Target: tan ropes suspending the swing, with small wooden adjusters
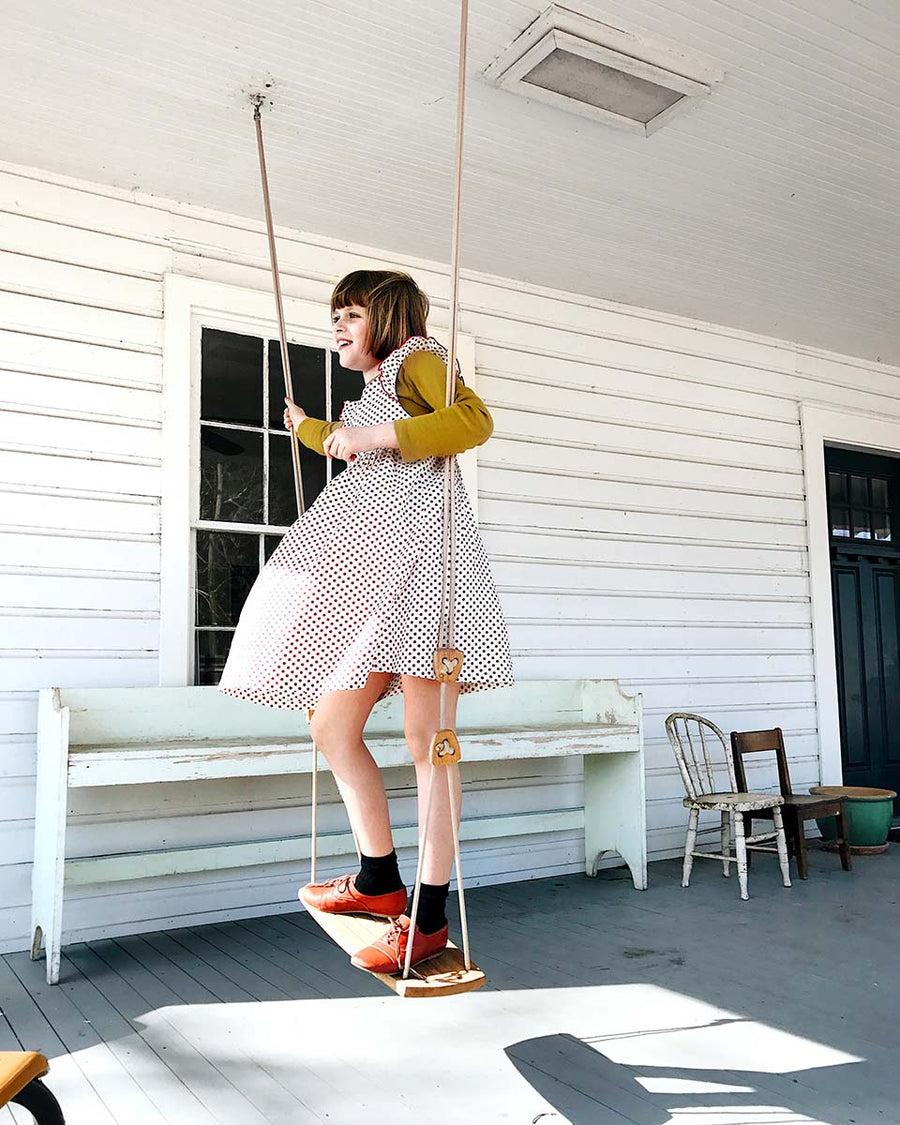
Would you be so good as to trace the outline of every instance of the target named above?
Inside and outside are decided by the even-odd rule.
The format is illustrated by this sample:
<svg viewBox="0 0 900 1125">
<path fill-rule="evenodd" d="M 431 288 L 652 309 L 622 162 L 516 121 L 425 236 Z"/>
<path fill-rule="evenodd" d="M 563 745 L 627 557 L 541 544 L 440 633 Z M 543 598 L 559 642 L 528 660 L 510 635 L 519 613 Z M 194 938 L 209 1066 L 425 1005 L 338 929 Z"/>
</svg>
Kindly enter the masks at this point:
<svg viewBox="0 0 900 1125">
<path fill-rule="evenodd" d="M 460 26 L 459 26 L 459 66 L 457 84 L 457 125 L 456 125 L 456 164 L 453 186 L 453 212 L 451 227 L 451 253 L 450 253 L 450 348 L 447 363 L 447 384 L 444 394 L 444 405 L 452 406 L 457 394 L 457 336 L 459 331 L 459 258 L 460 258 L 460 235 L 462 216 L 462 154 L 464 134 L 466 122 L 466 53 L 468 40 L 469 4 L 468 0 L 460 0 Z M 267 101 L 262 93 L 254 94 L 251 99 L 253 104 L 253 120 L 256 128 L 256 148 L 259 152 L 260 178 L 262 180 L 262 197 L 266 210 L 266 231 L 269 241 L 269 259 L 272 271 L 272 284 L 274 289 L 276 307 L 278 312 L 278 327 L 281 340 L 281 367 L 285 376 L 285 394 L 294 399 L 292 381 L 290 376 L 290 357 L 288 354 L 287 330 L 285 327 L 284 302 L 281 297 L 281 282 L 278 271 L 278 258 L 274 243 L 274 227 L 272 224 L 272 209 L 269 197 L 269 181 L 266 170 L 266 151 L 262 140 L 262 106 Z M 294 487 L 297 500 L 297 513 L 303 515 L 305 511 L 303 478 L 300 475 L 300 457 L 297 434 L 291 428 L 291 464 L 294 466 Z M 460 673 L 462 664 L 462 652 L 453 648 L 454 627 L 454 601 L 456 601 L 456 494 L 453 488 L 456 471 L 456 458 L 446 457 L 443 459 L 443 511 L 441 520 L 441 611 L 438 627 L 438 649 L 434 652 L 434 675 L 440 683 L 440 726 L 435 734 L 431 749 L 431 770 L 429 774 L 429 789 L 425 803 L 424 824 L 420 827 L 418 834 L 418 864 L 416 867 L 415 889 L 413 891 L 412 910 L 410 911 L 410 938 L 406 945 L 406 958 L 403 968 L 403 979 L 410 975 L 413 939 L 415 935 L 416 918 L 418 915 L 418 901 L 422 892 L 422 876 L 424 862 L 428 852 L 429 827 L 431 813 L 434 806 L 434 784 L 440 766 L 447 778 L 447 795 L 450 807 L 450 820 L 453 835 L 453 863 L 457 876 L 457 893 L 459 898 L 459 920 L 462 930 L 462 954 L 466 970 L 471 969 L 471 957 L 469 954 L 469 932 L 466 915 L 466 896 L 462 885 L 462 863 L 459 848 L 459 808 L 454 799 L 456 782 L 459 775 L 459 742 L 456 732 L 449 729 L 447 720 L 447 695 L 448 683 L 454 682 Z M 312 710 L 307 712 L 307 719 L 312 719 Z M 310 793 L 310 842 L 309 842 L 309 881 L 316 881 L 316 855 L 317 855 L 317 827 L 318 827 L 318 750 L 313 742 L 313 767 L 312 767 L 312 793 Z M 351 826 L 352 830 L 352 826 Z M 353 843 L 357 848 L 357 856 L 360 855 L 359 842 L 353 832 Z"/>
</svg>

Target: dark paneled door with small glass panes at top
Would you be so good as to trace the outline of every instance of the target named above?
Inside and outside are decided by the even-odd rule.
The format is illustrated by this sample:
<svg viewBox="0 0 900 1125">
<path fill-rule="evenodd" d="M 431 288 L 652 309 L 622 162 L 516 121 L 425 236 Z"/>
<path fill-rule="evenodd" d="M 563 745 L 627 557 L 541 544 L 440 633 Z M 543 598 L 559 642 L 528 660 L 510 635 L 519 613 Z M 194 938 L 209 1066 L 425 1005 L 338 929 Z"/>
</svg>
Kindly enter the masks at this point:
<svg viewBox="0 0 900 1125">
<path fill-rule="evenodd" d="M 844 783 L 900 791 L 900 460 L 825 464 Z"/>
</svg>

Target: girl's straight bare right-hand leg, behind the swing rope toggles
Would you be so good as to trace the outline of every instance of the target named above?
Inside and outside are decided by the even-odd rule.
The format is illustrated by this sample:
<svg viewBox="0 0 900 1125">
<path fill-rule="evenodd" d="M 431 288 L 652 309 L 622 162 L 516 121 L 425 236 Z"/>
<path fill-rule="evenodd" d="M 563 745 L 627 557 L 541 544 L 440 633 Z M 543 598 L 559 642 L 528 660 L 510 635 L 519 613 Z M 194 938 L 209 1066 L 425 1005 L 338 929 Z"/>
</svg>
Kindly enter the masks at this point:
<svg viewBox="0 0 900 1125">
<path fill-rule="evenodd" d="M 424 680 L 421 676 L 403 677 L 403 700 L 405 706 L 404 734 L 406 745 L 415 764 L 416 784 L 418 786 L 418 847 L 422 849 L 422 831 L 425 826 L 425 806 L 429 795 L 431 777 L 431 740 L 441 728 L 440 684 L 436 680 Z M 459 687 L 447 685 L 448 727 L 454 727 Z M 450 881 L 453 867 L 453 826 L 450 819 L 450 802 L 448 798 L 447 771 L 450 771 L 453 802 L 459 816 L 462 800 L 459 783 L 459 770 L 452 766 L 439 766 L 434 777 L 434 796 L 431 807 L 431 825 L 429 827 L 428 848 L 425 849 L 422 882 L 441 885 Z"/>
</svg>

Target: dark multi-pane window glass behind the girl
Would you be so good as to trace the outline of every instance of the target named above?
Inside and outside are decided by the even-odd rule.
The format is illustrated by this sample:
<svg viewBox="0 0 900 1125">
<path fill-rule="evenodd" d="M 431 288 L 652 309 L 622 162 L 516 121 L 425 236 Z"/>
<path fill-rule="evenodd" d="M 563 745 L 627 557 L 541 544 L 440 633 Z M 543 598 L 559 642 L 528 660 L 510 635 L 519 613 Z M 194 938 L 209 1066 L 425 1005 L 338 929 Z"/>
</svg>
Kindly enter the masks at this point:
<svg viewBox="0 0 900 1125">
<path fill-rule="evenodd" d="M 327 348 L 289 344 L 297 402 L 336 418 L 362 376 Z M 260 568 L 297 518 L 277 340 L 204 327 L 200 336 L 199 496 L 195 521 L 195 683 L 216 684 Z M 300 447 L 306 505 L 342 462 Z"/>
</svg>

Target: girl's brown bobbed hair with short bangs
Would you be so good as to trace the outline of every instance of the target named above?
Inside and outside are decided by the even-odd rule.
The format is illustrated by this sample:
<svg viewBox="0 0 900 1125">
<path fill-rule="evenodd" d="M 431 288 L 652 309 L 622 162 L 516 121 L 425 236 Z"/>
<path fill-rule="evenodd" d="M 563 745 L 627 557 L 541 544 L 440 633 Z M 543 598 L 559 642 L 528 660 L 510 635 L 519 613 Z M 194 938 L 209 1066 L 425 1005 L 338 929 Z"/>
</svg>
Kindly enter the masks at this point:
<svg viewBox="0 0 900 1125">
<path fill-rule="evenodd" d="M 426 334 L 429 299 L 408 273 L 394 270 L 354 270 L 331 295 L 331 310 L 359 305 L 369 320 L 368 348 L 386 359 L 410 336 Z"/>
</svg>

